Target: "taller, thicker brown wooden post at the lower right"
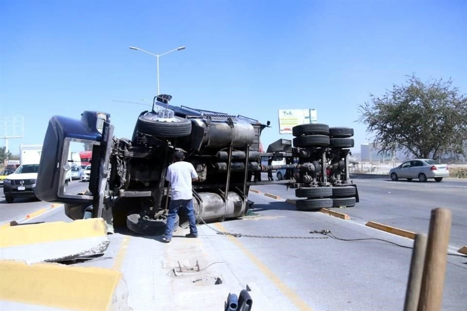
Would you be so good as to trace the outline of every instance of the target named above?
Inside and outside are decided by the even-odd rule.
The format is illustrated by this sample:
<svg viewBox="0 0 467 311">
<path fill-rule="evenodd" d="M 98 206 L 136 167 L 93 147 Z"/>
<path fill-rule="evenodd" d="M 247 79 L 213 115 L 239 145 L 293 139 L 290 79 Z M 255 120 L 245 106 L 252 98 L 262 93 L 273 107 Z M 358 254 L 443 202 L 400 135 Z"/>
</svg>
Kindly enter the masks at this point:
<svg viewBox="0 0 467 311">
<path fill-rule="evenodd" d="M 441 310 L 451 217 L 451 211 L 448 209 L 435 208 L 431 210 L 418 311 Z"/>
</svg>

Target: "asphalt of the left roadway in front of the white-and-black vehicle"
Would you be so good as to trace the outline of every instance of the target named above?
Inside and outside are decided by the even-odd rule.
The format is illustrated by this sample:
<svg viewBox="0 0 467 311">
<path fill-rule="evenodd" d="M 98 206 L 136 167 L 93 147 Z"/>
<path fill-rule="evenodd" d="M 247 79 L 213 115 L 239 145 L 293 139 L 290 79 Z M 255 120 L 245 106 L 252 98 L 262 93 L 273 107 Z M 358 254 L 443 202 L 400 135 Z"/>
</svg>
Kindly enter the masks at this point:
<svg viewBox="0 0 467 311">
<path fill-rule="evenodd" d="M 87 182 L 73 180 L 67 187 L 67 192 L 78 193 L 88 189 Z M 50 207 L 52 203 L 43 202 L 35 198 L 15 198 L 13 203 L 6 203 L 3 195 L 3 187 L 0 188 L 0 224 L 19 220 L 28 214 L 41 209 Z"/>
</svg>

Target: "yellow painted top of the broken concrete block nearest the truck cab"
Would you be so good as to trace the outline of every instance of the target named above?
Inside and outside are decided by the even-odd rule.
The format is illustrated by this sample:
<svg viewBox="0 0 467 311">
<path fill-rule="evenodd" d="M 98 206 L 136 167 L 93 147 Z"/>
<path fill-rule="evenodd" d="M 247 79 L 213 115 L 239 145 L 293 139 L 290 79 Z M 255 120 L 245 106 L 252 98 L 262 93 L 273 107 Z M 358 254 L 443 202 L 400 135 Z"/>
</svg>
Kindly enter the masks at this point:
<svg viewBox="0 0 467 311">
<path fill-rule="evenodd" d="M 102 218 L 75 220 L 72 223 L 16 225 L 0 230 L 0 250 L 3 247 L 100 236 L 107 236 L 107 225 Z"/>
</svg>

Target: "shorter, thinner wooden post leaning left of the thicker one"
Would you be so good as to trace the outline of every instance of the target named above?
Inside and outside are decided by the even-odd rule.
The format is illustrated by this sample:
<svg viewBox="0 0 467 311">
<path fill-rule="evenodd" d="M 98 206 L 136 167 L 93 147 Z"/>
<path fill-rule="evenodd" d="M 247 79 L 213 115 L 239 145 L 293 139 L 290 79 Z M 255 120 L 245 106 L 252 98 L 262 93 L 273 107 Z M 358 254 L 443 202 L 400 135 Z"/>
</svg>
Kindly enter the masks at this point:
<svg viewBox="0 0 467 311">
<path fill-rule="evenodd" d="M 412 260 L 410 263 L 409 281 L 405 294 L 404 311 L 417 311 L 420 287 L 422 286 L 423 265 L 425 263 L 425 252 L 427 250 L 427 236 L 425 234 L 415 235 L 413 241 Z"/>
</svg>

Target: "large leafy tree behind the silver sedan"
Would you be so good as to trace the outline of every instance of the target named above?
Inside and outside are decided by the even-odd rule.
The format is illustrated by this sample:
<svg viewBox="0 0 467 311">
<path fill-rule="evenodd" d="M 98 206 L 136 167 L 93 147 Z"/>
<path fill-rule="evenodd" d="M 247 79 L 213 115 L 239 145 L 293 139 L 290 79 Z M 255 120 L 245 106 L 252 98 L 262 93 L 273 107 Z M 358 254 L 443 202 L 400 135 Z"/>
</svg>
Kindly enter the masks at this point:
<svg viewBox="0 0 467 311">
<path fill-rule="evenodd" d="M 393 85 L 382 96 L 370 94 L 359 111 L 359 121 L 375 135 L 380 153 L 401 149 L 433 159 L 446 153 L 465 155 L 467 97 L 450 79 L 422 82 L 413 74 L 405 85 Z"/>
</svg>

